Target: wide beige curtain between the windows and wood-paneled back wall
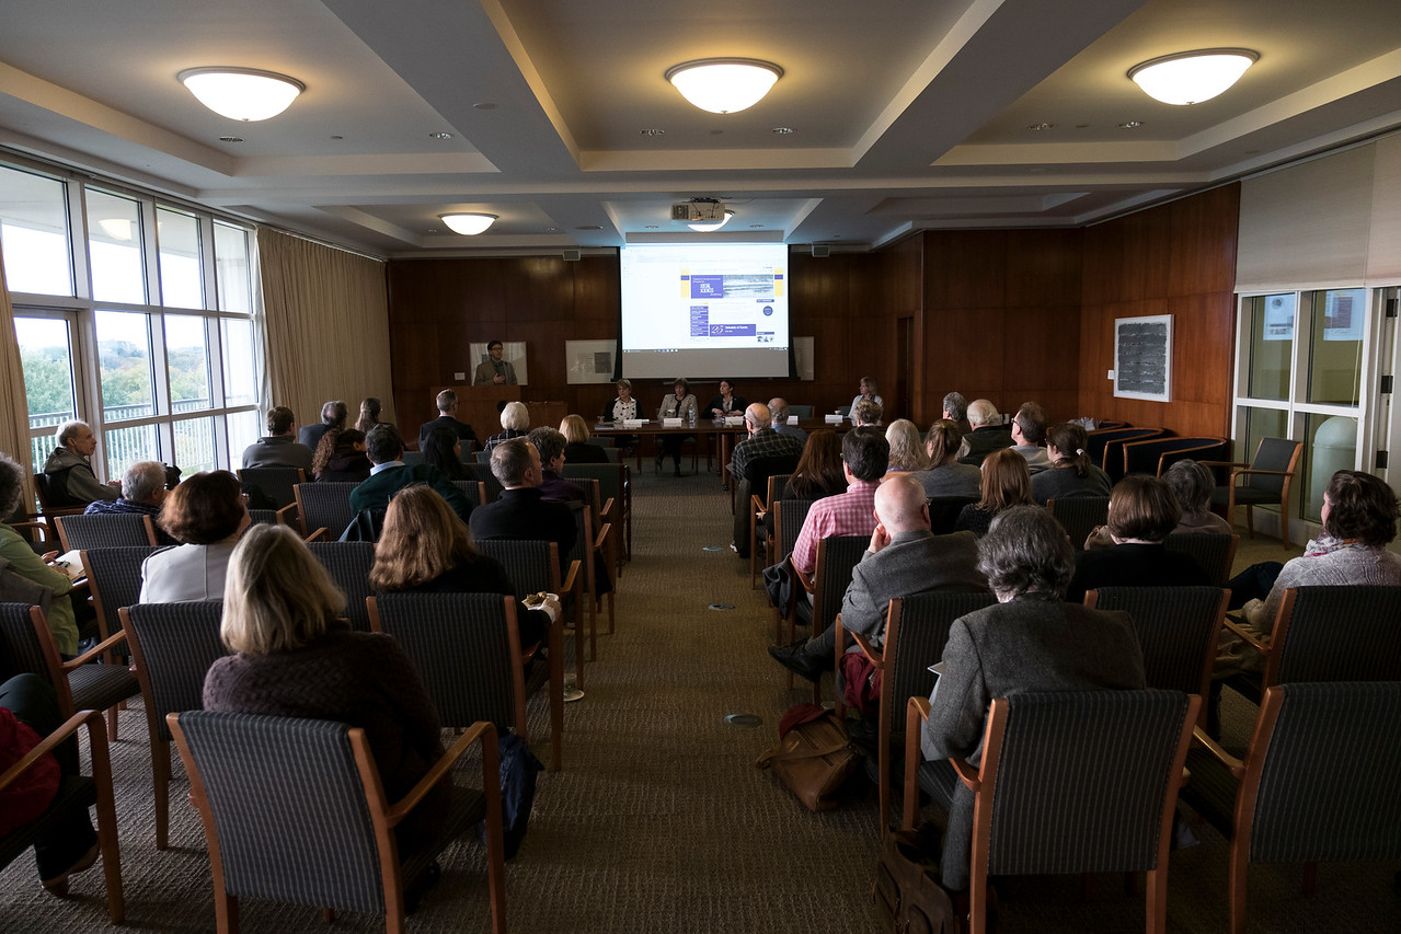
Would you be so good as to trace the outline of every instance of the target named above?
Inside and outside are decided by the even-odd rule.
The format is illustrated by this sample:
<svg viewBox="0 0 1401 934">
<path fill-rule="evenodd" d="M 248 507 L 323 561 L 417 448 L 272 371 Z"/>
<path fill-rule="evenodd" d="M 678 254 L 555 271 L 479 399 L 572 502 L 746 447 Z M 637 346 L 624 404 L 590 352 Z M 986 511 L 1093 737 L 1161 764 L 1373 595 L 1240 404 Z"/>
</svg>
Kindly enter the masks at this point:
<svg viewBox="0 0 1401 934">
<path fill-rule="evenodd" d="M 262 228 L 258 267 L 266 316 L 266 407 L 284 405 L 315 424 L 321 405 L 343 399 L 354 423 L 360 399 L 378 396 L 394 421 L 385 265 Z"/>
</svg>

